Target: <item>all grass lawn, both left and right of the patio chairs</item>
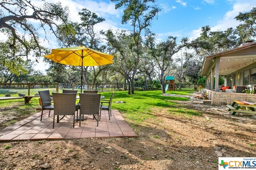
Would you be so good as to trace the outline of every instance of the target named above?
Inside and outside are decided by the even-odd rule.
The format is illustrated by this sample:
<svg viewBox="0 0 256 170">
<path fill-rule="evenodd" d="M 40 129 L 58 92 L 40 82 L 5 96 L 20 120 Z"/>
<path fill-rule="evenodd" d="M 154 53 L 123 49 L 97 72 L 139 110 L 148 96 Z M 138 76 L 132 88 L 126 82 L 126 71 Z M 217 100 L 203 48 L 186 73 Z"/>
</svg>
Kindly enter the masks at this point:
<svg viewBox="0 0 256 170">
<path fill-rule="evenodd" d="M 188 95 L 192 91 L 167 91 L 166 93 Z M 105 99 L 109 99 L 112 92 L 100 92 Z M 184 108 L 175 101 L 188 101 L 188 98 L 161 96 L 161 90 L 135 91 L 134 95 L 128 95 L 127 91 L 114 93 L 112 109 L 118 109 L 129 123 L 140 124 L 145 119 L 154 119 L 152 111 L 156 108 L 168 108 L 168 113 L 176 115 L 200 115 L 197 111 Z M 114 101 L 124 101 L 125 103 L 114 103 Z M 40 107 L 38 98 L 32 98 L 30 104 L 25 105 L 23 99 L 0 100 L 0 107 L 5 107 L 5 112 L 16 112 L 17 114 L 36 113 L 36 108 Z M 2 110 L 3 111 L 3 110 Z M 2 113 L 5 114 L 5 113 Z"/>
</svg>

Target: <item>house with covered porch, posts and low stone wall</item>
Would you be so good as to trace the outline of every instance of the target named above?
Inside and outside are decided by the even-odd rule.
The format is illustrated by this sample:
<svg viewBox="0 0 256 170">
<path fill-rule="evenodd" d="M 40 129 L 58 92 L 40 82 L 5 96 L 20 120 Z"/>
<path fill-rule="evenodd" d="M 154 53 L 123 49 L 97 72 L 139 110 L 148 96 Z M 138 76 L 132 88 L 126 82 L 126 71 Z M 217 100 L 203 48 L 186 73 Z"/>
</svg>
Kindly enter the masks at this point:
<svg viewBox="0 0 256 170">
<path fill-rule="evenodd" d="M 230 94 L 220 92 L 219 76 L 224 76 L 224 86 L 256 86 L 256 43 L 246 43 L 235 49 L 216 53 L 204 58 L 202 76 L 206 76 L 212 105 L 230 104 L 232 100 L 256 102 L 256 94 Z M 215 83 L 214 82 L 215 76 Z M 214 93 L 215 92 L 215 93 Z M 217 98 L 215 98 L 218 96 Z M 224 100 L 221 100 L 224 98 Z M 217 102 L 220 100 L 219 102 Z"/>
</svg>

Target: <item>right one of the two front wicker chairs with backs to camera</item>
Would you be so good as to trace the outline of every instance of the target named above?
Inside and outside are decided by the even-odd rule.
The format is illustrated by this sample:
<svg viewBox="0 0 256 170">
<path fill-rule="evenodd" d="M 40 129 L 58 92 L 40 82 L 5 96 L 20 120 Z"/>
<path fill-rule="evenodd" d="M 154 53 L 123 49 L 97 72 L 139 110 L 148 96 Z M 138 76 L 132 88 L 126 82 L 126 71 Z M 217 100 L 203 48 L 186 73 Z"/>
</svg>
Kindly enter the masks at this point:
<svg viewBox="0 0 256 170">
<path fill-rule="evenodd" d="M 79 126 L 81 126 L 81 115 L 93 115 L 96 119 L 95 115 L 98 115 L 97 126 L 99 125 L 99 116 L 100 116 L 100 95 L 101 94 L 79 94 L 80 97 L 80 122 Z"/>
</svg>

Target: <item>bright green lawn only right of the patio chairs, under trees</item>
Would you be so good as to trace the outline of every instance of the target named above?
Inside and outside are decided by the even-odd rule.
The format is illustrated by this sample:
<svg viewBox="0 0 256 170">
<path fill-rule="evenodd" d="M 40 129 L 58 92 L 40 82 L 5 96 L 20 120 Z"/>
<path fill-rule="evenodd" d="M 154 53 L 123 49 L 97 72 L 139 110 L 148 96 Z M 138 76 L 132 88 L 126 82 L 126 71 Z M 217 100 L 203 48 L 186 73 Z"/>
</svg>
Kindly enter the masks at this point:
<svg viewBox="0 0 256 170">
<path fill-rule="evenodd" d="M 110 98 L 112 92 L 102 92 L 102 96 L 106 99 Z M 166 91 L 166 93 L 188 95 L 191 91 Z M 143 120 L 148 118 L 154 118 L 151 114 L 154 107 L 163 108 L 175 106 L 175 108 L 180 107 L 175 103 L 175 100 L 188 101 L 188 98 L 182 97 L 170 97 L 161 96 L 161 90 L 154 91 L 135 91 L 134 95 L 128 95 L 127 91 L 115 92 L 113 101 L 124 101 L 126 103 L 112 103 L 112 109 L 118 109 L 126 121 L 130 123 L 140 124 Z M 191 113 L 191 110 L 186 113 L 184 109 L 181 109 L 179 113 L 183 114 L 185 112 L 187 115 L 197 115 L 196 113 Z M 175 111 L 177 113 L 177 111 Z"/>
</svg>

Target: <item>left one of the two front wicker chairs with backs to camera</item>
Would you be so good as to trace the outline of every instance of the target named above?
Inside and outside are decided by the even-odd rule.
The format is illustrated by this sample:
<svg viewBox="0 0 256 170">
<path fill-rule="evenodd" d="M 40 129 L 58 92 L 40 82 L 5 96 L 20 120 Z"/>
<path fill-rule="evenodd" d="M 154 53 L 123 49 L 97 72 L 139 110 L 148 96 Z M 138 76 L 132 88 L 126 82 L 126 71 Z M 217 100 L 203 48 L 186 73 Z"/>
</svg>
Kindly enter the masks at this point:
<svg viewBox="0 0 256 170">
<path fill-rule="evenodd" d="M 76 93 L 52 93 L 54 103 L 53 126 L 55 115 L 73 115 L 73 128 L 75 127 Z M 57 118 L 58 123 L 58 118 Z"/>
</svg>

